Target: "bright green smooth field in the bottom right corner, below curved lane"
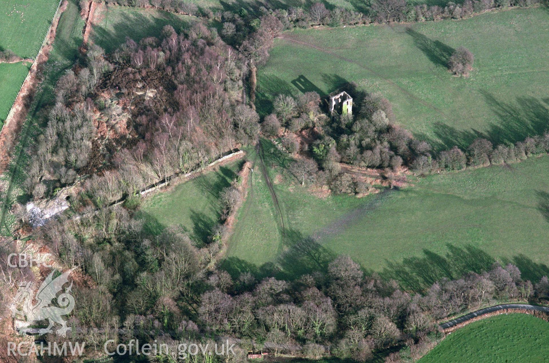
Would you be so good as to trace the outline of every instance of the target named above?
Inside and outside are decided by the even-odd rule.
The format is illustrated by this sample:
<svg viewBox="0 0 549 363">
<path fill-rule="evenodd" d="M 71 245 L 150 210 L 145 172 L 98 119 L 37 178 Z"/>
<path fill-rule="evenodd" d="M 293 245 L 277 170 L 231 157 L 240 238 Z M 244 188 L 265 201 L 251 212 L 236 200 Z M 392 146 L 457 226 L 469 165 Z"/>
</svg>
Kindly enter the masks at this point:
<svg viewBox="0 0 549 363">
<path fill-rule="evenodd" d="M 526 314 L 497 315 L 473 322 L 447 336 L 420 363 L 545 362 L 549 324 Z"/>
</svg>

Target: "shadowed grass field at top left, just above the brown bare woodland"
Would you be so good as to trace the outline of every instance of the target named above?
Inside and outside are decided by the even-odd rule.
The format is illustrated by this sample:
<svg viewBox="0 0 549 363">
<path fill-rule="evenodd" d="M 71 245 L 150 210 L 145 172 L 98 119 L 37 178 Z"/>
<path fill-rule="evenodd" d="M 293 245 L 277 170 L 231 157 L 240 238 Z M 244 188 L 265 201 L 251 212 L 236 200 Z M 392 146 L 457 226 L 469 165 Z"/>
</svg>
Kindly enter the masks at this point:
<svg viewBox="0 0 549 363">
<path fill-rule="evenodd" d="M 144 37 L 158 37 L 165 25 L 173 26 L 177 32 L 188 28 L 197 18 L 173 14 L 163 10 L 127 8 L 118 6 L 104 7 L 98 14 L 100 23 L 93 26 L 92 39 L 98 46 L 110 53 L 126 37 L 138 42 Z"/>
</svg>

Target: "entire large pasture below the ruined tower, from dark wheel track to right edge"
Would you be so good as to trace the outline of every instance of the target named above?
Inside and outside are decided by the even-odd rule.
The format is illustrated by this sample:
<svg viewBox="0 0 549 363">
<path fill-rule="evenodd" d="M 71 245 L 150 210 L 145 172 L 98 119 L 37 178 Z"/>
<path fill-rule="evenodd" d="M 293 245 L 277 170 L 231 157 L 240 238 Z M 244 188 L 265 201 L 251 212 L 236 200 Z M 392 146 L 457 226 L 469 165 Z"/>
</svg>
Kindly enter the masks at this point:
<svg viewBox="0 0 549 363">
<path fill-rule="evenodd" d="M 442 277 L 519 266 L 533 281 L 549 274 L 549 156 L 412 180 L 413 186 L 365 198 L 318 198 L 292 181 L 283 156 L 264 142 L 265 162 L 284 220 L 256 161 L 225 268 L 235 275 L 292 278 L 349 254 L 412 290 Z M 250 154 L 252 155 L 252 154 Z M 252 160 L 253 158 L 250 157 Z M 311 239 L 309 237 L 314 237 Z"/>
</svg>

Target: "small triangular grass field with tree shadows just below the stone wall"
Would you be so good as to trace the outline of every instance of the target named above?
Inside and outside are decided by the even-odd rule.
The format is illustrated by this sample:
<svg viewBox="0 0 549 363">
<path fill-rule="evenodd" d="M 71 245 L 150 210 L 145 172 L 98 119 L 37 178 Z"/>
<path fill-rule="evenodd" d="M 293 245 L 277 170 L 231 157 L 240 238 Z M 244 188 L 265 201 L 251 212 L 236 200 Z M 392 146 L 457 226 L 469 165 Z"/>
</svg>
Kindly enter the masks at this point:
<svg viewBox="0 0 549 363">
<path fill-rule="evenodd" d="M 231 185 L 240 167 L 242 161 L 221 166 L 214 172 L 178 184 L 170 191 L 146 198 L 138 212 L 145 220 L 146 228 L 152 234 L 175 228 L 188 232 L 198 243 L 205 242 L 211 229 L 219 224 L 219 194 Z"/>
</svg>

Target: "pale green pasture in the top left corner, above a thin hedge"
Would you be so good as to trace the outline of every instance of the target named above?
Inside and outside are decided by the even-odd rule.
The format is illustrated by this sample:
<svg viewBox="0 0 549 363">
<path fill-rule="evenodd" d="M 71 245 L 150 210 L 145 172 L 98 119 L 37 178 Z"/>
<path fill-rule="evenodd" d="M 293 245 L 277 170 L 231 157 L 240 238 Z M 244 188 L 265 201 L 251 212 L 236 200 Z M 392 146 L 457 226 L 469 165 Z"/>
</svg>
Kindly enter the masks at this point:
<svg viewBox="0 0 549 363">
<path fill-rule="evenodd" d="M 34 58 L 42 46 L 59 0 L 0 2 L 0 50 Z"/>
</svg>

